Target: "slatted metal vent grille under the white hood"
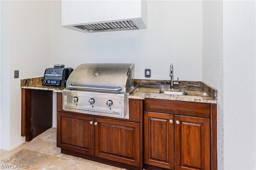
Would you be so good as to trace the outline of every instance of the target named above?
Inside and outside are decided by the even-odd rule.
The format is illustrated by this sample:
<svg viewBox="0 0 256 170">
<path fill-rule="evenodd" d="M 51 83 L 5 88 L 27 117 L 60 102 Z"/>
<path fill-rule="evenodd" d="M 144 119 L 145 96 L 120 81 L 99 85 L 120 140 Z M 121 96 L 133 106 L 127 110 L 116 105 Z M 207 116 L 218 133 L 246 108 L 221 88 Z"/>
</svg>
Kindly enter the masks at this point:
<svg viewBox="0 0 256 170">
<path fill-rule="evenodd" d="M 118 30 L 138 30 L 137 26 L 131 21 L 105 22 L 99 24 L 86 24 L 74 26 L 87 32 L 103 32 L 103 31 L 118 31 Z"/>
</svg>

